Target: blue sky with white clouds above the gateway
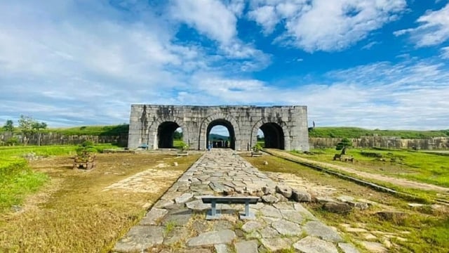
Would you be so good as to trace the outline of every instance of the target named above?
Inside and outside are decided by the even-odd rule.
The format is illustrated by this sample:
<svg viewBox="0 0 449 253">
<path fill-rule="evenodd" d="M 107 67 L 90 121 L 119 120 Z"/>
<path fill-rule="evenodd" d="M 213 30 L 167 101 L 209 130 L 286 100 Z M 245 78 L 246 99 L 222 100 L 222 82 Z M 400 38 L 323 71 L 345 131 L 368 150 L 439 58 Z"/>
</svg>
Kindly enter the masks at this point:
<svg viewBox="0 0 449 253">
<path fill-rule="evenodd" d="M 121 124 L 147 103 L 449 129 L 449 3 L 0 1 L 0 100 L 0 124 Z"/>
</svg>

